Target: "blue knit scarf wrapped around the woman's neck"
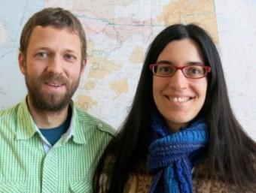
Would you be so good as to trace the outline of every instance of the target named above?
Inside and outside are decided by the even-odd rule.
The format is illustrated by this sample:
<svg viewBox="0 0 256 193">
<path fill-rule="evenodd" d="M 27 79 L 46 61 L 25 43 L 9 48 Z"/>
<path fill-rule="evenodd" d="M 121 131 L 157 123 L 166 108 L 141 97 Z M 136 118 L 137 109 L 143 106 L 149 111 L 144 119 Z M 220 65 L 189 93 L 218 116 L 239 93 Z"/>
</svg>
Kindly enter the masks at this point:
<svg viewBox="0 0 256 193">
<path fill-rule="evenodd" d="M 209 140 L 205 122 L 198 119 L 170 134 L 163 118 L 154 113 L 152 128 L 155 137 L 148 147 L 148 168 L 154 178 L 150 193 L 192 193 L 192 168 Z"/>
</svg>

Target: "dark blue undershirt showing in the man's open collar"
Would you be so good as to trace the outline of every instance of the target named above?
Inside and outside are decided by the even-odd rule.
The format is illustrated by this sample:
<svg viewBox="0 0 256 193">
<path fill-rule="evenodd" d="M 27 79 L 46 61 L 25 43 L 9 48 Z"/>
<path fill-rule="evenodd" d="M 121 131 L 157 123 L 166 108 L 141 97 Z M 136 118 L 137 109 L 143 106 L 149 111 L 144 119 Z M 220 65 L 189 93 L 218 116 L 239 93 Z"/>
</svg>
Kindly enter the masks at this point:
<svg viewBox="0 0 256 193">
<path fill-rule="evenodd" d="M 69 128 L 70 120 L 72 116 L 72 110 L 69 107 L 68 116 L 67 119 L 59 125 L 59 127 L 56 128 L 39 128 L 41 131 L 41 134 L 44 135 L 44 137 L 49 141 L 49 143 L 53 146 L 62 136 L 62 134 L 65 134 L 66 131 Z"/>
</svg>

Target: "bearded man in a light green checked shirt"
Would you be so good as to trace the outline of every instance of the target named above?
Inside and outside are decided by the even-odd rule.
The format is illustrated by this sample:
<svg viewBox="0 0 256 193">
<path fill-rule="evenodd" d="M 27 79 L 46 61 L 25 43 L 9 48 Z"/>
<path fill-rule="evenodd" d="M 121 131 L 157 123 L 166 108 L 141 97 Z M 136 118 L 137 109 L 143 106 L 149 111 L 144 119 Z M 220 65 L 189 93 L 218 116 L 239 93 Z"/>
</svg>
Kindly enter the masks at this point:
<svg viewBox="0 0 256 193">
<path fill-rule="evenodd" d="M 20 38 L 28 95 L 0 112 L 1 192 L 91 192 L 114 130 L 72 103 L 86 65 L 78 19 L 62 8 L 34 14 Z"/>
</svg>

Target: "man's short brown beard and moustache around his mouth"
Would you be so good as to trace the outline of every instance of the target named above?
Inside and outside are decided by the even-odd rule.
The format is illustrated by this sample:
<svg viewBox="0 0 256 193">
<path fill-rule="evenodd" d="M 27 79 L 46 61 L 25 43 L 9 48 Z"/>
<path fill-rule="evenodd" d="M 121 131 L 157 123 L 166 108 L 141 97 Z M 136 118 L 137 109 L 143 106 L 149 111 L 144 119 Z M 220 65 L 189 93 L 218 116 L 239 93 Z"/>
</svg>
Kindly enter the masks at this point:
<svg viewBox="0 0 256 193">
<path fill-rule="evenodd" d="M 42 74 L 42 76 L 38 78 L 31 78 L 26 75 L 25 81 L 30 101 L 35 109 L 58 112 L 67 107 L 72 101 L 72 96 L 76 89 L 78 89 L 80 77 L 78 77 L 78 80 L 69 83 L 69 80 L 61 74 L 47 73 Z M 52 91 L 44 92 L 41 89 L 41 85 L 45 83 L 58 83 L 59 85 L 64 85 L 66 86 L 66 92 L 64 94 Z"/>
</svg>

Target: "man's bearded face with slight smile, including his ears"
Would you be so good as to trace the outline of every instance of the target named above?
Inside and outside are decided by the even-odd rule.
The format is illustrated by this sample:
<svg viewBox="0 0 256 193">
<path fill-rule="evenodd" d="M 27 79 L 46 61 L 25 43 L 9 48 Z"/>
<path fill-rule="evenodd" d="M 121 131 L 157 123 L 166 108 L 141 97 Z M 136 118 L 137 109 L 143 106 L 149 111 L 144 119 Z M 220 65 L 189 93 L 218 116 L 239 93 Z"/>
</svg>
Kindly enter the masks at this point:
<svg viewBox="0 0 256 193">
<path fill-rule="evenodd" d="M 78 88 L 81 72 L 81 41 L 68 29 L 36 26 L 26 56 L 20 53 L 28 99 L 37 110 L 59 111 L 67 107 Z"/>
</svg>

